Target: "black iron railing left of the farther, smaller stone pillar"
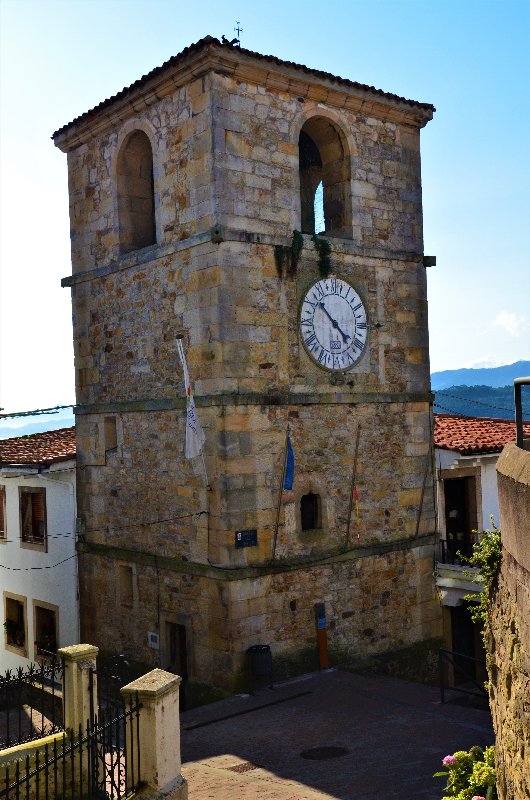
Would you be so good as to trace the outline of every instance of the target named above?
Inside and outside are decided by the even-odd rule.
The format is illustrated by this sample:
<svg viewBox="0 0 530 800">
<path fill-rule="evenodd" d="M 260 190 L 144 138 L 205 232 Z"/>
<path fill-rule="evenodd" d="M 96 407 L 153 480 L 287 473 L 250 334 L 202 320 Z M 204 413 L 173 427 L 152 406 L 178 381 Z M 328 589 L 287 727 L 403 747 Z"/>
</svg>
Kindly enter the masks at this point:
<svg viewBox="0 0 530 800">
<path fill-rule="evenodd" d="M 62 730 L 63 679 L 56 657 L 0 675 L 0 749 Z"/>
</svg>

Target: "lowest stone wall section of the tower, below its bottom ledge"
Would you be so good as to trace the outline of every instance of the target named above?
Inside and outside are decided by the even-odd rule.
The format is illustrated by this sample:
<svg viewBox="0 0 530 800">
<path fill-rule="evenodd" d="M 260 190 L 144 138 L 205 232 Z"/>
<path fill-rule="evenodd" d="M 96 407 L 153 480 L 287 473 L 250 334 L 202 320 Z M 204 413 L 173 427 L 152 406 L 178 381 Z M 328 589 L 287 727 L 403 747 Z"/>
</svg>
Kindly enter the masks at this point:
<svg viewBox="0 0 530 800">
<path fill-rule="evenodd" d="M 134 569 L 136 590 L 121 603 L 117 565 Z M 359 548 L 313 564 L 216 570 L 147 553 L 87 549 L 80 555 L 83 628 L 112 649 L 164 664 L 149 650 L 160 618 L 186 627 L 194 680 L 228 689 L 248 682 L 245 651 L 271 648 L 275 677 L 318 668 L 314 605 L 324 602 L 330 663 L 397 650 L 440 635 L 432 582 L 432 545 Z M 131 620 L 134 624 L 131 624 Z"/>
</svg>

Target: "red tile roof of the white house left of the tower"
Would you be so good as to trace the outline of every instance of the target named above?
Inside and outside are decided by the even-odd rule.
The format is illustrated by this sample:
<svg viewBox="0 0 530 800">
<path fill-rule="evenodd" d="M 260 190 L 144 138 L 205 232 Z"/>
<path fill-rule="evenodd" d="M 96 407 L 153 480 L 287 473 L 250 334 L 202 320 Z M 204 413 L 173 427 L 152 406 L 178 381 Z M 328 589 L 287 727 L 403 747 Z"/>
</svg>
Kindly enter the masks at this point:
<svg viewBox="0 0 530 800">
<path fill-rule="evenodd" d="M 75 458 L 75 428 L 0 440 L 0 467 L 46 466 Z"/>
</svg>

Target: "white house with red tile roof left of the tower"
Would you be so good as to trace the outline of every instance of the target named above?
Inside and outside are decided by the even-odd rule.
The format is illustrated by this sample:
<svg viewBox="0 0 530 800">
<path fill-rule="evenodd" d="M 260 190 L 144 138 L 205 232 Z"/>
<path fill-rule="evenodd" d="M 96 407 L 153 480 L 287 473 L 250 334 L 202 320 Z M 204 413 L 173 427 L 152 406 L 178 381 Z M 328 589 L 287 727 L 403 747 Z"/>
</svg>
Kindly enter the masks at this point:
<svg viewBox="0 0 530 800">
<path fill-rule="evenodd" d="M 0 673 L 79 641 L 75 428 L 0 441 Z"/>
</svg>

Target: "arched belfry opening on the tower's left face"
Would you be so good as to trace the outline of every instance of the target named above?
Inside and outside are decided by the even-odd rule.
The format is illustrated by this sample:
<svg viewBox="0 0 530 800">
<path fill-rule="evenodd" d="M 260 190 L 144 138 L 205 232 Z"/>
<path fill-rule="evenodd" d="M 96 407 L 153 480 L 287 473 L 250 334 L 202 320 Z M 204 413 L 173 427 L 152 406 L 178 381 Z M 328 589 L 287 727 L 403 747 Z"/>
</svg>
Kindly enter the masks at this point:
<svg viewBox="0 0 530 800">
<path fill-rule="evenodd" d="M 156 243 L 153 152 L 143 131 L 134 131 L 118 155 L 120 250 L 130 253 Z"/>
</svg>

